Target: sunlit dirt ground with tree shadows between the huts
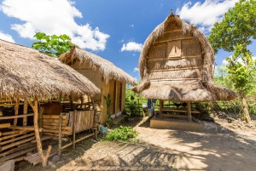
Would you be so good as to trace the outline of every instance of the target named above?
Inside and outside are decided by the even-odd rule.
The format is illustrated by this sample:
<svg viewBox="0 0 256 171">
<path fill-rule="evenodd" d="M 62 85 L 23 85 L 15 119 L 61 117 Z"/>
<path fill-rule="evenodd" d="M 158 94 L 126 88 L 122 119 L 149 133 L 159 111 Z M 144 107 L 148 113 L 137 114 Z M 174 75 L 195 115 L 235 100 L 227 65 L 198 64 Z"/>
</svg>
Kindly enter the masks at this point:
<svg viewBox="0 0 256 171">
<path fill-rule="evenodd" d="M 51 166 L 19 170 L 256 170 L 256 132 L 213 119 L 203 131 L 184 131 L 149 128 L 148 117 L 130 117 L 123 125 L 137 130 L 138 143 L 85 140 Z"/>
</svg>

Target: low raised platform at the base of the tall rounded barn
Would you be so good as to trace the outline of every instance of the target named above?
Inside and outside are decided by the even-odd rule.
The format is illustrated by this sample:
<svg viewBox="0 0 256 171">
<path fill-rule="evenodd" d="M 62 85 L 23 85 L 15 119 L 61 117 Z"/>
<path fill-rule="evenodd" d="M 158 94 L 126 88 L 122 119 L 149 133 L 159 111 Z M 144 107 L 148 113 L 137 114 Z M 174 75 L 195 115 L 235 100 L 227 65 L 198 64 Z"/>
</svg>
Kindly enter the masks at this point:
<svg viewBox="0 0 256 171">
<path fill-rule="evenodd" d="M 172 117 L 152 117 L 150 120 L 150 128 L 178 128 L 185 130 L 203 130 L 201 123 L 189 122 L 183 118 Z"/>
</svg>

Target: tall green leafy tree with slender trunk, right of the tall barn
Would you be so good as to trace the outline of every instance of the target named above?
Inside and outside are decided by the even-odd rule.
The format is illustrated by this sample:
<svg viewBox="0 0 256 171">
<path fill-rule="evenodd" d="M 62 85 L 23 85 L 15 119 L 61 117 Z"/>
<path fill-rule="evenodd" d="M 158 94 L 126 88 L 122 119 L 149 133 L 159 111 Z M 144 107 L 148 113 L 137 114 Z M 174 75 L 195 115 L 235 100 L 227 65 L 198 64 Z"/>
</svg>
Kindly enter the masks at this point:
<svg viewBox="0 0 256 171">
<path fill-rule="evenodd" d="M 224 20 L 214 24 L 208 37 L 215 53 L 218 53 L 220 48 L 234 52 L 226 59 L 229 62 L 227 71 L 241 98 L 243 117 L 247 122 L 250 122 L 251 118 L 246 96 L 251 88 L 255 71 L 255 62 L 247 47 L 253 43 L 252 39 L 256 38 L 255 9 L 255 0 L 240 0 L 233 9 L 224 14 Z"/>
</svg>

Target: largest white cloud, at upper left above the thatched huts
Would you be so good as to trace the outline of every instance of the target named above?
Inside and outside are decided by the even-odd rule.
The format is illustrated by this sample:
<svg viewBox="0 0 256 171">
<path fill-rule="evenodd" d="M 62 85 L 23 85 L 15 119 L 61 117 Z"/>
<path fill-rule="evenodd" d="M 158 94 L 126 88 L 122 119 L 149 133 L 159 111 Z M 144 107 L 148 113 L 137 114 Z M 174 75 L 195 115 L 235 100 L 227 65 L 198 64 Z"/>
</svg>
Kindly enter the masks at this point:
<svg viewBox="0 0 256 171">
<path fill-rule="evenodd" d="M 90 24 L 78 25 L 74 18 L 83 18 L 81 12 L 69 0 L 4 0 L 0 10 L 9 17 L 22 21 L 13 24 L 11 29 L 17 31 L 20 37 L 33 39 L 37 31 L 47 35 L 67 34 L 73 43 L 80 48 L 104 50 L 108 34 L 102 33 L 98 27 Z"/>
</svg>

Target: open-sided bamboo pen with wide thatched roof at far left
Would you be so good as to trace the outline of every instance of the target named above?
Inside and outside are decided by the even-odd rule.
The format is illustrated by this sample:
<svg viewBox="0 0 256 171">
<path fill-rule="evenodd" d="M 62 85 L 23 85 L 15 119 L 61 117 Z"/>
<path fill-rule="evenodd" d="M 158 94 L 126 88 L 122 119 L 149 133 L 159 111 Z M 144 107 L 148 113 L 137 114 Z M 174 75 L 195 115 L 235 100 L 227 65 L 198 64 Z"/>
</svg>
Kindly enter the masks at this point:
<svg viewBox="0 0 256 171">
<path fill-rule="evenodd" d="M 61 61 L 0 40 L 0 163 L 27 160 L 45 166 L 48 157 L 60 156 L 62 149 L 93 136 L 98 122 L 95 104 L 83 100 L 76 104 L 72 97 L 99 93 L 94 83 Z M 57 103 L 63 96 L 71 97 L 66 112 Z M 77 133 L 90 129 L 76 139 Z M 67 135 L 73 140 L 62 145 Z M 58 147 L 49 145 L 44 151 L 44 140 L 49 139 L 58 140 Z M 26 156 L 32 151 L 38 152 Z"/>
</svg>

